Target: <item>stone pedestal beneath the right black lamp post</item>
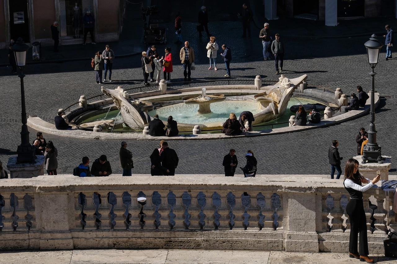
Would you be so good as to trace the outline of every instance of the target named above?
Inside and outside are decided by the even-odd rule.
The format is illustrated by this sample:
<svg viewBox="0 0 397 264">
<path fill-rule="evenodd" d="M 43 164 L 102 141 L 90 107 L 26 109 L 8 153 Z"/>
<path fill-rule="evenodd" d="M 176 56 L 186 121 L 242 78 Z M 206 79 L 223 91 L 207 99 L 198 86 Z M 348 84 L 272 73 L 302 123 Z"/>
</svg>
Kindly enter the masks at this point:
<svg viewBox="0 0 397 264">
<path fill-rule="evenodd" d="M 389 179 L 389 169 L 391 165 L 391 157 L 390 156 L 384 156 L 382 155 L 383 158 L 386 158 L 385 161 L 382 164 L 379 164 L 378 162 L 367 162 L 367 163 L 361 163 L 362 162 L 362 156 L 355 156 L 354 158 L 358 160 L 360 165 L 358 165 L 358 170 L 360 173 L 365 177 L 370 180 L 374 179 L 376 177 L 376 171 L 380 171 L 380 179 L 381 180 L 388 180 Z M 380 182 L 377 184 L 380 186 Z"/>
</svg>

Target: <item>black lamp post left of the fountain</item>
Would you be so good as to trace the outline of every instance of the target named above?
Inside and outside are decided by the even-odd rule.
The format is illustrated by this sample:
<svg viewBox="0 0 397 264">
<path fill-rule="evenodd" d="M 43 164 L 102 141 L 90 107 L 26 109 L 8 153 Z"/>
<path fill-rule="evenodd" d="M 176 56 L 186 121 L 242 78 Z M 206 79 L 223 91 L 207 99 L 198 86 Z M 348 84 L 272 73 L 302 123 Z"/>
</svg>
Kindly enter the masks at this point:
<svg viewBox="0 0 397 264">
<path fill-rule="evenodd" d="M 22 130 L 21 130 L 21 144 L 17 148 L 17 163 L 34 163 L 36 159 L 35 147 L 29 143 L 29 131 L 27 130 L 26 106 L 25 106 L 25 87 L 23 86 L 23 67 L 26 64 L 26 51 L 29 49 L 22 38 L 18 38 L 17 42 L 12 46 L 12 51 L 15 53 L 15 61 L 21 70 L 18 75 L 21 78 L 21 106 L 22 106 Z"/>
</svg>

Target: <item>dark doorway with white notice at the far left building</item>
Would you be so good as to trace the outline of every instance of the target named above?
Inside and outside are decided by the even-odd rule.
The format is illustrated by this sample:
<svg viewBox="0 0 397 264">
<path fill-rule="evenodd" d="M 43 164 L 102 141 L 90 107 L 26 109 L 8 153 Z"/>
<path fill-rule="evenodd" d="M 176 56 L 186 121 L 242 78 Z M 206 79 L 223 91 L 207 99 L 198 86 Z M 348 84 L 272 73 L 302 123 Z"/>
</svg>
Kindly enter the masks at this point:
<svg viewBox="0 0 397 264">
<path fill-rule="evenodd" d="M 28 0 L 10 0 L 10 37 L 30 42 Z"/>
</svg>

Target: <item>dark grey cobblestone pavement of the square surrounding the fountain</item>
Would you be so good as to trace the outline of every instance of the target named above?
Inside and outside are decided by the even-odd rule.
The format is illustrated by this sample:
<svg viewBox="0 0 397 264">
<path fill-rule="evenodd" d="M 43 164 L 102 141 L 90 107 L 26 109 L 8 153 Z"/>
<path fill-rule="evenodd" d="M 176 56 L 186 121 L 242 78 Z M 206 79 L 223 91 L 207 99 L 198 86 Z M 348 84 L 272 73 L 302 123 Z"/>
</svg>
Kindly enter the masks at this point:
<svg viewBox="0 0 397 264">
<path fill-rule="evenodd" d="M 224 75 L 224 65 L 218 57 L 220 70 L 207 70 L 205 38 L 200 39 L 194 30 L 195 23 L 185 23 L 183 37 L 195 48 L 197 70 L 192 73 L 192 85 L 197 80 L 212 82 Z M 222 30 L 227 27 L 227 30 Z M 275 29 L 274 29 L 275 30 Z M 210 25 L 210 32 L 217 36 L 219 44 L 229 44 L 233 52 L 231 73 L 236 79 L 253 83 L 253 78 L 260 74 L 263 80 L 277 80 L 274 61 L 262 60 L 262 44 L 252 34 L 250 38 L 239 38 L 239 23 L 218 22 Z M 175 36 L 169 32 L 168 40 Z M 281 37 L 285 42 L 284 74 L 295 78 L 308 74 L 309 86 L 341 87 L 343 92 L 355 92 L 356 85 L 370 89 L 370 66 L 367 63 L 364 42 L 366 37 L 315 39 Z M 382 39 L 381 39 L 382 40 Z M 178 62 L 181 45 L 170 44 L 173 53 L 173 81 L 183 80 L 182 67 Z M 158 46 L 160 51 L 164 46 Z M 117 51 L 115 51 L 117 53 Z M 376 67 L 376 89 L 382 96 L 391 96 L 382 100 L 382 106 L 376 112 L 376 129 L 378 143 L 382 145 L 382 154 L 396 156 L 394 131 L 396 131 L 397 100 L 395 95 L 396 59 L 384 60 L 385 48 L 380 54 L 380 63 Z M 140 56 L 116 58 L 112 79 L 105 83 L 107 87 L 123 85 L 124 88 L 142 85 Z M 0 68 L 2 97 L 0 98 L 0 160 L 6 163 L 20 142 L 20 86 L 17 76 L 9 76 L 9 69 Z M 36 114 L 52 122 L 56 110 L 75 103 L 80 95 L 91 97 L 100 94 L 99 85 L 94 82 L 94 72 L 90 61 L 67 62 L 59 64 L 32 65 L 26 68 L 25 93 L 27 113 Z M 233 80 L 233 79 L 232 79 Z M 171 88 L 178 87 L 171 84 Z M 152 89 L 156 89 L 153 87 Z M 369 116 L 364 116 L 346 123 L 304 132 L 270 135 L 264 137 L 210 140 L 210 141 L 173 141 L 171 148 L 177 150 L 180 163 L 177 173 L 223 173 L 222 157 L 233 147 L 237 150 L 240 163 L 247 149 L 252 149 L 258 159 L 260 174 L 328 174 L 328 147 L 333 139 L 340 142 L 341 156 L 345 160 L 355 156 L 355 136 L 360 127 L 368 129 Z M 36 131 L 30 129 L 31 140 Z M 58 148 L 59 173 L 71 173 L 73 167 L 81 162 L 82 156 L 89 156 L 91 161 L 106 154 L 115 173 L 121 173 L 119 165 L 119 142 L 82 140 L 54 135 L 44 135 L 46 140 L 53 140 Z M 149 155 L 158 142 L 128 142 L 134 155 L 135 173 L 149 173 Z M 344 165 L 344 164 L 343 164 Z M 391 174 L 396 174 L 392 164 Z"/>
</svg>

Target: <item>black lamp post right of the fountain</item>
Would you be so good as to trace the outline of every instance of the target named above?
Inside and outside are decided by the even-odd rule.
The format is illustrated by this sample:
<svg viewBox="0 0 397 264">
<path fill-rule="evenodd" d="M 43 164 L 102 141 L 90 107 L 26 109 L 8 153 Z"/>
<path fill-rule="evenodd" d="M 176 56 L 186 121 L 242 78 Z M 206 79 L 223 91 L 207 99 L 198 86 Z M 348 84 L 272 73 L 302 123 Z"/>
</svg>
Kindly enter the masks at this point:
<svg viewBox="0 0 397 264">
<path fill-rule="evenodd" d="M 364 146 L 362 163 L 368 161 L 378 161 L 382 163 L 383 159 L 380 154 L 380 146 L 376 142 L 376 129 L 375 129 L 375 74 L 374 68 L 378 64 L 378 58 L 382 44 L 376 39 L 376 35 L 372 34 L 370 40 L 365 42 L 364 46 L 367 49 L 368 63 L 372 68 L 370 75 L 372 77 L 371 85 L 371 109 L 370 109 L 370 129 L 368 131 L 368 143 Z"/>
</svg>

